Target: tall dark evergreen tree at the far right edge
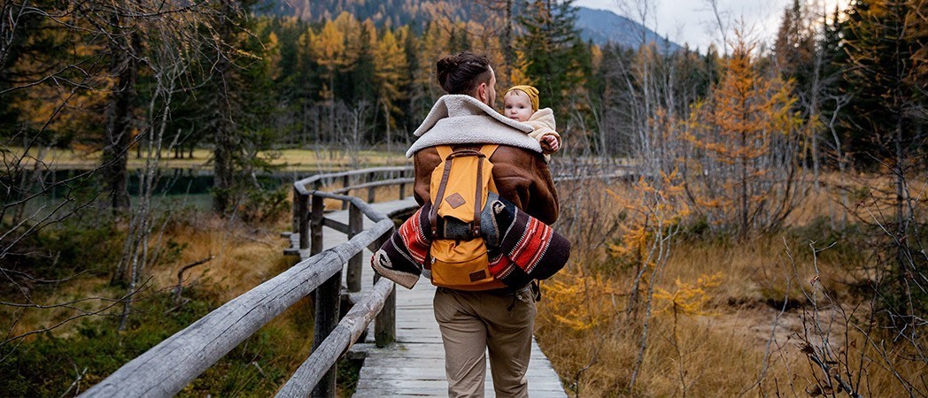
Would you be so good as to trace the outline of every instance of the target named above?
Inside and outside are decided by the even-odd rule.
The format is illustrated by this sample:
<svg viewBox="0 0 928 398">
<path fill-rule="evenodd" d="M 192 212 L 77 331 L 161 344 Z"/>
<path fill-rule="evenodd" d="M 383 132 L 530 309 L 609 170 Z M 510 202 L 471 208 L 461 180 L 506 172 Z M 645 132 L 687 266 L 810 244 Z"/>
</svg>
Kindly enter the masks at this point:
<svg viewBox="0 0 928 398">
<path fill-rule="evenodd" d="M 856 133 L 852 139 L 863 149 L 858 159 L 879 161 L 895 181 L 895 219 L 884 221 L 885 229 L 893 231 L 887 244 L 896 252 L 890 274 L 894 291 L 882 296 L 890 313 L 905 319 L 906 327 L 900 328 L 909 330 L 913 340 L 918 339 L 918 319 L 928 310 L 925 289 L 911 286 L 924 261 L 915 254 L 920 248 L 910 246 L 918 245 L 910 243 L 918 238 L 909 239 L 918 237 L 909 178 L 924 171 L 928 149 L 926 13 L 924 1 L 857 0 L 847 11 L 844 28 L 844 79 L 853 95 L 846 120 Z"/>
</svg>

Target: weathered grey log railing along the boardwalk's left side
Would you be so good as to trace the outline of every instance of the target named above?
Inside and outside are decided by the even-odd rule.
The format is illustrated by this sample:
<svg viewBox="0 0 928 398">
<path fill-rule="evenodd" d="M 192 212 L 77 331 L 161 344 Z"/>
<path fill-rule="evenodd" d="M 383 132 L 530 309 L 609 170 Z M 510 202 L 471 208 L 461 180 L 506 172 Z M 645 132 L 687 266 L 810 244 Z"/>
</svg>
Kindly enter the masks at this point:
<svg viewBox="0 0 928 398">
<path fill-rule="evenodd" d="M 375 212 L 364 200 L 341 193 L 367 189 L 367 199 L 373 202 L 377 187 L 395 185 L 400 186 L 402 198 L 406 184 L 412 182 L 412 178 L 406 176 L 411 171 L 411 167 L 366 169 L 320 174 L 294 183 L 294 230 L 299 231 L 296 252 L 301 261 L 161 341 L 81 396 L 172 396 L 271 319 L 314 292 L 313 352 L 277 396 L 305 397 L 310 392 L 313 396 L 335 396 L 335 363 L 363 334 L 367 325 L 374 320 L 375 340 L 379 346 L 393 343 L 396 335 L 393 282 L 387 279 L 375 280 L 364 299 L 354 303 L 352 310 L 339 320 L 342 267 L 349 264 L 348 289 L 360 290 L 363 250 L 379 248 L 394 227 L 389 218 L 391 214 Z M 351 186 L 353 177 L 366 181 Z M 336 179 L 342 179 L 341 193 L 319 190 L 323 184 Z M 342 200 L 343 207 L 348 207 L 347 225 L 325 218 L 325 199 Z M 364 229 L 363 217 L 374 225 Z M 346 233 L 348 241 L 322 250 L 324 225 Z"/>
</svg>

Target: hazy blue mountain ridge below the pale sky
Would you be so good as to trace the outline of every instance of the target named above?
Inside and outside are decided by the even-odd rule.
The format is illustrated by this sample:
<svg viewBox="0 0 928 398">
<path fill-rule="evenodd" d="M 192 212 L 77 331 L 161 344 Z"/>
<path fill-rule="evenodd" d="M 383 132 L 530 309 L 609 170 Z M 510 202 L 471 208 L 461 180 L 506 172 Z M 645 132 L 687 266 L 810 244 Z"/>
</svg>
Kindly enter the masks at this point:
<svg viewBox="0 0 928 398">
<path fill-rule="evenodd" d="M 638 22 L 616 15 L 605 9 L 593 9 L 585 6 L 578 7 L 576 27 L 580 30 L 580 37 L 590 40 L 597 45 L 612 43 L 630 48 L 638 48 L 641 44 L 641 33 L 644 32 L 648 43 L 657 43 L 659 47 L 666 45 L 667 53 L 682 49 L 674 42 L 664 41 L 657 32 L 642 26 Z"/>
</svg>

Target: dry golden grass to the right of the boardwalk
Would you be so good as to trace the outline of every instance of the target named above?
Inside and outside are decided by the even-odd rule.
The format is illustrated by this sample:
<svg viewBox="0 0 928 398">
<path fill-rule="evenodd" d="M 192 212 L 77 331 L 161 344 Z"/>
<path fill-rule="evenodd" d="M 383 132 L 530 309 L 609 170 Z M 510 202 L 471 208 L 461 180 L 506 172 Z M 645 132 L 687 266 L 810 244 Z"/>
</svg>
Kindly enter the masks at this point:
<svg viewBox="0 0 928 398">
<path fill-rule="evenodd" d="M 891 188 L 884 178 L 828 175 L 824 180 L 824 188 L 811 192 L 791 214 L 787 229 L 822 218 L 853 222 L 889 209 L 878 206 L 891 205 L 854 205 L 861 186 Z M 923 198 L 923 185 L 912 186 L 913 196 Z M 579 229 L 582 234 L 572 236 L 579 241 L 572 263 L 543 284 L 545 299 L 539 303 L 536 324 L 539 342 L 565 385 L 578 396 L 807 396 L 807 391 L 814 392 L 822 371 L 811 366 L 802 351 L 803 340 L 820 347 L 824 338 L 835 352 L 848 353 L 841 361 L 848 367 L 841 372 L 849 368 L 856 385 L 859 376 L 858 391 L 865 396 L 908 396 L 899 378 L 911 380 L 922 391 L 925 388 L 928 364 L 906 359 L 911 350 L 902 346 L 889 344 L 895 351 L 879 353 L 874 340 L 857 329 L 867 326 L 860 320 L 870 315 L 870 305 L 867 298 L 851 291 L 862 276 L 848 259 L 857 255 L 859 260 L 862 248 L 838 246 L 814 259 L 809 245 L 821 249 L 831 242 L 815 235 L 824 230 L 812 227 L 806 233 L 780 232 L 741 241 L 711 235 L 678 239 L 655 287 L 674 291 L 677 280 L 695 283 L 716 273 L 721 283 L 702 291 L 706 301 L 696 313 L 658 312 L 667 307 L 654 302 L 647 351 L 635 389 L 629 392 L 643 315 L 625 314 L 632 269 L 608 256 L 601 243 L 610 243 L 609 239 L 597 244 L 591 238 L 601 236 L 601 229 L 588 230 L 612 225 L 621 213 L 609 205 L 590 208 L 604 203 L 592 198 L 604 188 L 586 186 L 586 197 L 578 199 L 577 189 L 561 186 L 562 194 L 571 193 L 562 198 L 566 222 L 561 222 L 585 226 Z M 609 188 L 619 196 L 630 193 L 628 186 Z M 852 205 L 845 207 L 843 200 Z M 570 232 L 562 225 L 565 229 Z M 815 284 L 810 283 L 813 280 Z M 834 302 L 826 298 L 826 291 Z M 813 292 L 815 305 L 806 296 Z M 787 298 L 787 310 L 780 313 Z M 812 330 L 817 320 L 827 326 L 818 334 Z M 871 332 L 870 337 L 881 335 Z M 899 377 L 888 368 L 896 369 Z"/>
</svg>

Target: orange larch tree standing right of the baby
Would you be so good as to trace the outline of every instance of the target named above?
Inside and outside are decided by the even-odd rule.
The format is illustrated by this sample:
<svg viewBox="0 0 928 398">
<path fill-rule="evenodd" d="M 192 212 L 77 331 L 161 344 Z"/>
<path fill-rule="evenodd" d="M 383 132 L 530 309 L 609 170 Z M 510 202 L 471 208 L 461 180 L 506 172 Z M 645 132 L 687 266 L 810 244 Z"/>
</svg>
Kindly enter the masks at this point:
<svg viewBox="0 0 928 398">
<path fill-rule="evenodd" d="M 737 37 L 721 80 L 690 113 L 696 150 L 685 164 L 694 210 L 745 238 L 779 226 L 801 189 L 792 85 L 758 71 L 754 46 Z"/>
</svg>

